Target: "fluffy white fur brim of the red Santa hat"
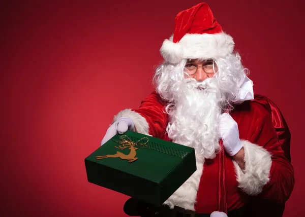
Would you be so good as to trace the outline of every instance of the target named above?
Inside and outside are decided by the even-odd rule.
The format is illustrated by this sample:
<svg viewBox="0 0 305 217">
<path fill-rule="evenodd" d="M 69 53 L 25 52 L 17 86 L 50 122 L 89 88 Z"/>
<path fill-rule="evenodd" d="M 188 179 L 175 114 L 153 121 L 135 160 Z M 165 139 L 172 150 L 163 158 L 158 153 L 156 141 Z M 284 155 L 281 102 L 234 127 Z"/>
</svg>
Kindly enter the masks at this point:
<svg viewBox="0 0 305 217">
<path fill-rule="evenodd" d="M 178 63 L 182 59 L 215 59 L 225 57 L 234 49 L 233 38 L 225 32 L 216 34 L 186 34 L 179 42 L 166 39 L 160 49 L 165 61 Z"/>
</svg>

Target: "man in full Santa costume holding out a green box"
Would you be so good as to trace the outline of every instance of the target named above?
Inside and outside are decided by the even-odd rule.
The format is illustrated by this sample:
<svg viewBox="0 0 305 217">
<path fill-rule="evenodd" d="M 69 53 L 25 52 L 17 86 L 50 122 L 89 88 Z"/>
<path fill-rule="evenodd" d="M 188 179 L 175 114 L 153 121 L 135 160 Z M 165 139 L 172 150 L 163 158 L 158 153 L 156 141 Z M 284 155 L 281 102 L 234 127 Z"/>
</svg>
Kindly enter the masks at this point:
<svg viewBox="0 0 305 217">
<path fill-rule="evenodd" d="M 233 48 L 207 4 L 177 14 L 156 91 L 115 115 L 102 144 L 128 129 L 173 141 L 195 149 L 197 171 L 162 207 L 131 198 L 129 215 L 282 216 L 294 185 L 282 148 L 289 130 L 278 107 L 254 95 Z"/>
</svg>

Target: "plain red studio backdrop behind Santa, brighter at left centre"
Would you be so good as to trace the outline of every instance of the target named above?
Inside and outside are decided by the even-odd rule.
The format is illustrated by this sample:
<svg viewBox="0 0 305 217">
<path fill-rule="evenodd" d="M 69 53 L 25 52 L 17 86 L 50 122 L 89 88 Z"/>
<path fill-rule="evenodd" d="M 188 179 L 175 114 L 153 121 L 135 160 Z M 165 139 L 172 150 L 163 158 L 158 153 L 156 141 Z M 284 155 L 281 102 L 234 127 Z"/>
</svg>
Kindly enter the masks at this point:
<svg viewBox="0 0 305 217">
<path fill-rule="evenodd" d="M 88 183 L 84 158 L 117 112 L 153 90 L 176 13 L 197 3 L 2 3 L 0 215 L 126 216 L 129 197 Z M 290 127 L 296 184 L 285 216 L 301 216 L 303 1 L 207 3 L 234 38 L 255 93 L 271 98 Z"/>
</svg>

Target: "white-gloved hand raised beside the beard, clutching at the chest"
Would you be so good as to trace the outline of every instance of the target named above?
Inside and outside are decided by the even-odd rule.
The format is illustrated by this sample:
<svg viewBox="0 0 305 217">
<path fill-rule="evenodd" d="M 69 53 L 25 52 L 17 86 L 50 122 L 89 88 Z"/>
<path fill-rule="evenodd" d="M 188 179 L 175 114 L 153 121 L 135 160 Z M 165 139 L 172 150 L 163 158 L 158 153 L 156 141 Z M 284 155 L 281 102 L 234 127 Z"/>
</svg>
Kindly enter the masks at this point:
<svg viewBox="0 0 305 217">
<path fill-rule="evenodd" d="M 230 156 L 236 155 L 242 148 L 237 123 L 228 113 L 220 116 L 218 135 L 222 138 L 225 151 Z"/>
</svg>

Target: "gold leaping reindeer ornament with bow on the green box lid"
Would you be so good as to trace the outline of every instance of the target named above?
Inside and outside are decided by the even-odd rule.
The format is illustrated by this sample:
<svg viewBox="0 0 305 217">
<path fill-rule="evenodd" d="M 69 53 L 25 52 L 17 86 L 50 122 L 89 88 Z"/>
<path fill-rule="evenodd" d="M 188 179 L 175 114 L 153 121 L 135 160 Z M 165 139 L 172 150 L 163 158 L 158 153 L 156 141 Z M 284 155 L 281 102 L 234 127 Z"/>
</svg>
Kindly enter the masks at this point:
<svg viewBox="0 0 305 217">
<path fill-rule="evenodd" d="M 115 141 L 114 139 L 112 139 L 112 140 Z M 120 149 L 120 150 L 129 149 L 130 150 L 129 154 L 126 155 L 124 153 L 117 151 L 116 154 L 114 154 L 114 155 L 96 156 L 96 159 L 101 160 L 101 159 L 105 159 L 105 158 L 120 158 L 122 160 L 128 160 L 129 163 L 132 163 L 132 162 L 138 160 L 138 158 L 136 157 L 136 154 L 137 154 L 136 150 L 138 150 L 138 148 L 136 148 L 136 146 L 145 146 L 148 142 L 148 138 L 144 137 L 144 138 L 141 138 L 140 140 L 138 140 L 137 142 L 133 142 L 127 135 L 122 135 L 122 136 L 120 136 L 119 141 L 115 141 L 115 142 L 120 144 L 119 147 L 115 146 L 115 148 Z"/>
</svg>

